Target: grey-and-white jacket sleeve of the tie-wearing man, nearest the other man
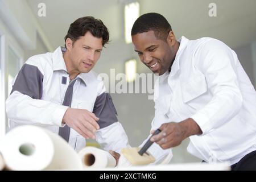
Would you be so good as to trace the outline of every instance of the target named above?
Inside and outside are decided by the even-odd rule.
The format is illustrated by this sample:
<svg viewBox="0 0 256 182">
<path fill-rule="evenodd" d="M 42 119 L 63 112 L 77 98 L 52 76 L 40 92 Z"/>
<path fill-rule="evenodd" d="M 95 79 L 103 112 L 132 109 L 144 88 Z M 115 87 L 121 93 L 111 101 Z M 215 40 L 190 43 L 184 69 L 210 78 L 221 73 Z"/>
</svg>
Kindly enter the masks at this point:
<svg viewBox="0 0 256 182">
<path fill-rule="evenodd" d="M 100 130 L 96 132 L 96 140 L 104 150 L 113 150 L 118 153 L 122 148 L 129 147 L 129 142 L 125 130 L 117 119 L 112 98 L 105 92 L 103 82 L 98 86 L 98 97 L 96 98 L 93 113 L 100 118 L 98 124 Z"/>
</svg>

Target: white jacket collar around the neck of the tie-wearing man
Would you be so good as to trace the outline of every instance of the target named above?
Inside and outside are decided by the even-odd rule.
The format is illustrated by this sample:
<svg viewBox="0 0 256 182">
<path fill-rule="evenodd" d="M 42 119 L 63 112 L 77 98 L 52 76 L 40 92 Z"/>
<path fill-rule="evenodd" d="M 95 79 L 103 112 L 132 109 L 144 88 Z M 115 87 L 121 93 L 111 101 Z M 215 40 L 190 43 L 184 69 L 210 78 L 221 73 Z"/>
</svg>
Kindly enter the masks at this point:
<svg viewBox="0 0 256 182">
<path fill-rule="evenodd" d="M 53 53 L 52 53 L 52 65 L 53 71 L 67 71 L 67 67 L 63 58 L 63 52 L 65 52 L 67 48 L 59 46 Z M 77 78 L 80 78 L 84 84 L 86 85 L 86 78 L 84 73 L 80 73 L 77 75 Z M 76 78 L 75 78 L 76 79 Z"/>
</svg>

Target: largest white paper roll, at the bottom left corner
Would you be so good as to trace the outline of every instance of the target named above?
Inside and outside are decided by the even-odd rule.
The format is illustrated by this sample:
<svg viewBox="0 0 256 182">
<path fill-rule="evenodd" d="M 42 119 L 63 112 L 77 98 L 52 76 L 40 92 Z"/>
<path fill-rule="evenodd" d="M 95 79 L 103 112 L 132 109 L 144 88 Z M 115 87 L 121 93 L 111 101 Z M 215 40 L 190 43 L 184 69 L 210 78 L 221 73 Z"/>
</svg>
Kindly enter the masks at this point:
<svg viewBox="0 0 256 182">
<path fill-rule="evenodd" d="M 59 135 L 36 126 L 19 126 L 0 141 L 10 170 L 82 169 L 79 155 Z"/>
</svg>

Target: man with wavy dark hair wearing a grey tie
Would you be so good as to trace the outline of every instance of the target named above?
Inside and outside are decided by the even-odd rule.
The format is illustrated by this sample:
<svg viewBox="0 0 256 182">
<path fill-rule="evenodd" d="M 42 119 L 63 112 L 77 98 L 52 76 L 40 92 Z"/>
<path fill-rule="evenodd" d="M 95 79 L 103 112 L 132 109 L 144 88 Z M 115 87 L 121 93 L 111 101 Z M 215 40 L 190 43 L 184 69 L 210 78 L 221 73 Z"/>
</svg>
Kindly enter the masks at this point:
<svg viewBox="0 0 256 182">
<path fill-rule="evenodd" d="M 112 98 L 92 71 L 108 41 L 104 23 L 86 16 L 71 24 L 65 47 L 30 57 L 6 100 L 10 129 L 42 126 L 59 133 L 77 151 L 89 138 L 107 151 L 127 147 Z"/>
</svg>

